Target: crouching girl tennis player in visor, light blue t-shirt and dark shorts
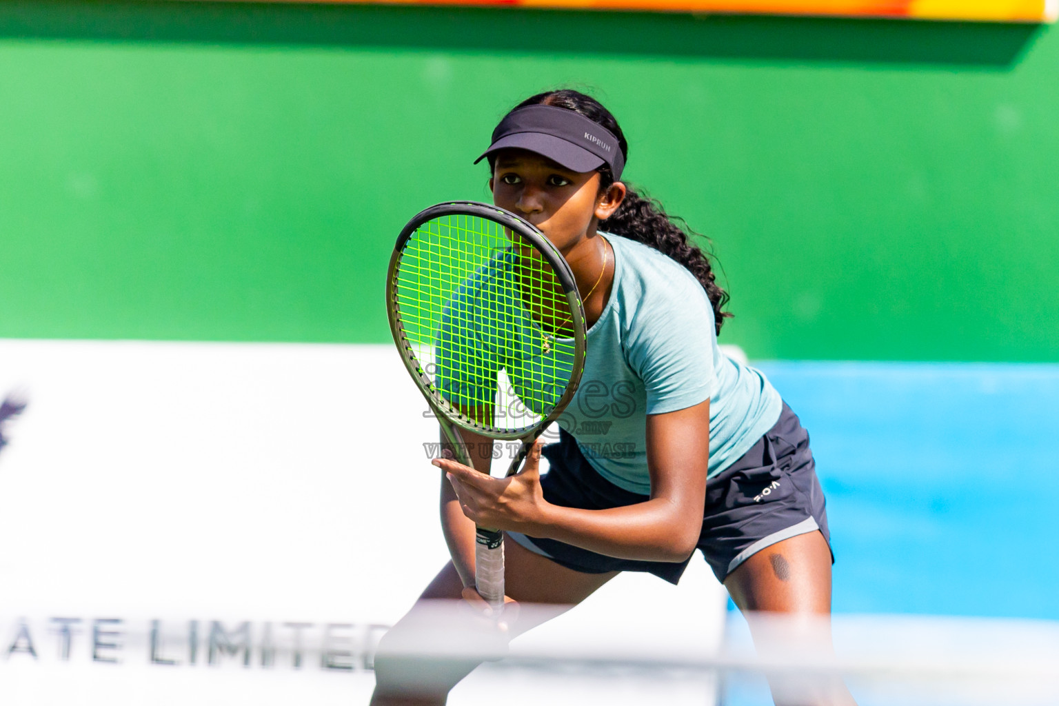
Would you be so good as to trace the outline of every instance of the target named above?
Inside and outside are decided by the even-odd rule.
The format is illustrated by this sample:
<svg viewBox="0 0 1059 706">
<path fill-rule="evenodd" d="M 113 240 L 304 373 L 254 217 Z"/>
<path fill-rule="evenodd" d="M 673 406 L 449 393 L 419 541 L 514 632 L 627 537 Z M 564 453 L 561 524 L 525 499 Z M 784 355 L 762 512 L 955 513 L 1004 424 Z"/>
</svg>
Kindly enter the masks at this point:
<svg viewBox="0 0 1059 706">
<path fill-rule="evenodd" d="M 621 181 L 628 155 L 606 108 L 560 90 L 513 109 L 479 158 L 493 202 L 569 263 L 588 352 L 558 442 L 538 443 L 520 473 L 488 476 L 491 443 L 465 431 L 478 470 L 434 461 L 452 559 L 421 598 L 487 610 L 473 589 L 477 523 L 505 531 L 514 601 L 575 604 L 624 571 L 676 583 L 698 548 L 741 610 L 827 616 L 832 558 L 808 434 L 760 372 L 718 348 L 728 295 L 682 221 Z M 510 633 L 530 627 L 517 619 Z M 473 668 L 409 690 L 385 656 L 392 636 L 374 704 L 444 703 Z M 852 703 L 825 691 L 812 703 Z"/>
</svg>

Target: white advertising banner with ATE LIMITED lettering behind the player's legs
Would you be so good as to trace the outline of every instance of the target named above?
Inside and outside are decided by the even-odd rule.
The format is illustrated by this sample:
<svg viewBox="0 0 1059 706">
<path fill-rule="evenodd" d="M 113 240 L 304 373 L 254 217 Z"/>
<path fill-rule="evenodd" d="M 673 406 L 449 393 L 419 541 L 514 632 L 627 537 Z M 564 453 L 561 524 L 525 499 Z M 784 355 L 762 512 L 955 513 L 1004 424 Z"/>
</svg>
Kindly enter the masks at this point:
<svg viewBox="0 0 1059 706">
<path fill-rule="evenodd" d="M 366 704 L 375 642 L 448 556 L 436 427 L 392 347 L 7 340 L 0 396 L 5 703 Z M 696 558 L 519 639 L 706 650 L 724 600 Z M 450 703 L 498 678 L 506 704 L 713 699 L 492 670 Z"/>
</svg>

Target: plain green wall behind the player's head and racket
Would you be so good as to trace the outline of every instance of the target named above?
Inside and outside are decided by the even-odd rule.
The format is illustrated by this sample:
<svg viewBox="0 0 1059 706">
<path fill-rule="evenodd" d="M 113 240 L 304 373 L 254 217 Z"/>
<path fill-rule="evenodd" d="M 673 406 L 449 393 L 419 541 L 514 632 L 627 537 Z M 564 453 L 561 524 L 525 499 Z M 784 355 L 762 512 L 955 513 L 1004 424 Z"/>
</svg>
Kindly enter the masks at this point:
<svg viewBox="0 0 1059 706">
<path fill-rule="evenodd" d="M 1059 360 L 1059 33 L 0 3 L 0 337 L 384 342 L 389 250 L 524 95 L 592 87 L 754 358 Z"/>
</svg>

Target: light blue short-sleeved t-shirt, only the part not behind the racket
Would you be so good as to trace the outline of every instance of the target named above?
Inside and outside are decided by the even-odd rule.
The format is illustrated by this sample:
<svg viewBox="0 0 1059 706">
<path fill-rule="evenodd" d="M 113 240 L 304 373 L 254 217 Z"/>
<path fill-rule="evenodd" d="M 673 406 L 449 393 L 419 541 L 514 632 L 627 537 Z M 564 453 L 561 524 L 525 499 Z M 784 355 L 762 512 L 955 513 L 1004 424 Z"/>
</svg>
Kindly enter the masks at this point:
<svg viewBox="0 0 1059 706">
<path fill-rule="evenodd" d="M 646 415 L 708 398 L 707 477 L 717 475 L 776 422 L 779 394 L 717 347 L 713 305 L 695 275 L 649 246 L 604 236 L 614 284 L 589 329 L 581 383 L 559 426 L 600 475 L 648 494 Z"/>
</svg>

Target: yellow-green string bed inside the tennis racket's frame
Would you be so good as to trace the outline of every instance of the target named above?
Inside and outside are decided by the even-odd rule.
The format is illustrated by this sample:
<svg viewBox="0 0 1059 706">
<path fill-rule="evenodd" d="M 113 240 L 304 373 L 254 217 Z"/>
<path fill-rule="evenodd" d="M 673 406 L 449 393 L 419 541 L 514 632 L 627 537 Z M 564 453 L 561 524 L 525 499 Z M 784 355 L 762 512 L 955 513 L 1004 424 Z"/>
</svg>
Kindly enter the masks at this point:
<svg viewBox="0 0 1059 706">
<path fill-rule="evenodd" d="M 492 432 L 539 423 L 574 369 L 574 316 L 554 269 L 503 225 L 448 215 L 408 239 L 397 314 L 430 394 Z"/>
</svg>

